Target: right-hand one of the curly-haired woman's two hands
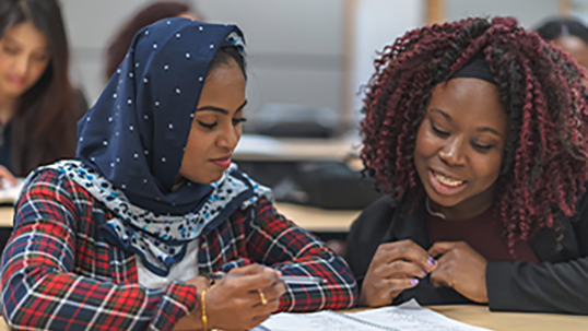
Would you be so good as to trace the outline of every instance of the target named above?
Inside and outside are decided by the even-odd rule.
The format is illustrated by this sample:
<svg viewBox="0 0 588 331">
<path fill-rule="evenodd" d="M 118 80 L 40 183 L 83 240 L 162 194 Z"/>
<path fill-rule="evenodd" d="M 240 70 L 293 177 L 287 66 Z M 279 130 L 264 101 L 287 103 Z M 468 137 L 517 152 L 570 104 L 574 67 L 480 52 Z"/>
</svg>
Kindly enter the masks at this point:
<svg viewBox="0 0 588 331">
<path fill-rule="evenodd" d="M 440 256 L 437 269 L 431 274 L 433 285 L 445 285 L 473 302 L 487 303 L 487 262 L 468 244 L 435 243 L 428 253 L 432 257 Z"/>
</svg>

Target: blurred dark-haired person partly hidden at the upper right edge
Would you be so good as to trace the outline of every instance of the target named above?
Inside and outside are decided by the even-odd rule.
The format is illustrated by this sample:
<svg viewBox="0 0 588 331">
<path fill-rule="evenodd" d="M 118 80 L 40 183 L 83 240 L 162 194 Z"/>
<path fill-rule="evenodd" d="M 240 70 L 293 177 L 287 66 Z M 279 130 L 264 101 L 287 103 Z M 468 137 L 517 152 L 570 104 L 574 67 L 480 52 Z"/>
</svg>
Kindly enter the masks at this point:
<svg viewBox="0 0 588 331">
<path fill-rule="evenodd" d="M 536 28 L 539 36 L 567 51 L 588 69 L 588 27 L 574 17 L 554 17 Z"/>
</svg>

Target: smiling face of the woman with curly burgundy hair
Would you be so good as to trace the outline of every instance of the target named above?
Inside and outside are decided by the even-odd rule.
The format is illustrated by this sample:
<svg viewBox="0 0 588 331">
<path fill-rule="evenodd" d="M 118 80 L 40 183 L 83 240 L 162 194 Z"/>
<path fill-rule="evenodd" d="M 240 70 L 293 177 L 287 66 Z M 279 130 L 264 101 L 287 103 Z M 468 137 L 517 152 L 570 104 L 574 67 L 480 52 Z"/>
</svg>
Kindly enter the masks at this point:
<svg viewBox="0 0 588 331">
<path fill-rule="evenodd" d="M 460 78 L 433 90 L 416 135 L 414 166 L 432 205 L 448 218 L 469 218 L 492 204 L 507 126 L 491 83 Z"/>
</svg>

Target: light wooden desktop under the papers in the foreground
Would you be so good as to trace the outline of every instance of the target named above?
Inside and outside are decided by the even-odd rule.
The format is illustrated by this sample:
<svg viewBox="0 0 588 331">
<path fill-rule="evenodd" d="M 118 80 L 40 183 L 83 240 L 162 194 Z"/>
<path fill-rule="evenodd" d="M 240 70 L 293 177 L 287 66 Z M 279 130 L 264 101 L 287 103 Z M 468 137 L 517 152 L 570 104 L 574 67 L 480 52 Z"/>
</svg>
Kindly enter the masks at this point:
<svg viewBox="0 0 588 331">
<path fill-rule="evenodd" d="M 586 331 L 588 316 L 490 312 L 484 306 L 432 306 L 427 307 L 448 318 L 494 331 Z M 357 311 L 362 309 L 354 309 Z M 9 331 L 0 318 L 0 331 Z M 303 331 L 303 330 L 301 330 Z"/>
</svg>

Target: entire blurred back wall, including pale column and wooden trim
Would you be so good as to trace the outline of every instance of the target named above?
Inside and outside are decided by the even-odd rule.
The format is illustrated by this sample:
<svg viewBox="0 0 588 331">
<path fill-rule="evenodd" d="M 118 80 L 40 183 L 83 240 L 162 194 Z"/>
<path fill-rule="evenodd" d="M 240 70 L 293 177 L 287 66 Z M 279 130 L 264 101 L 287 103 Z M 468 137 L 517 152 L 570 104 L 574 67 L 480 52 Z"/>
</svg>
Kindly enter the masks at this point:
<svg viewBox="0 0 588 331">
<path fill-rule="evenodd" d="M 90 104 L 105 82 L 107 44 L 148 0 L 61 0 L 72 79 Z M 249 52 L 247 111 L 287 103 L 334 110 L 356 122 L 360 86 L 376 50 L 407 29 L 469 15 L 513 15 L 532 28 L 548 16 L 588 19 L 587 0 L 191 0 L 197 15 L 237 23 Z"/>
</svg>

